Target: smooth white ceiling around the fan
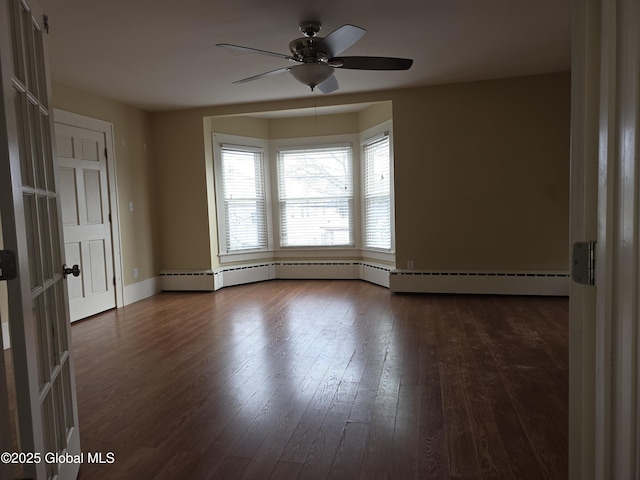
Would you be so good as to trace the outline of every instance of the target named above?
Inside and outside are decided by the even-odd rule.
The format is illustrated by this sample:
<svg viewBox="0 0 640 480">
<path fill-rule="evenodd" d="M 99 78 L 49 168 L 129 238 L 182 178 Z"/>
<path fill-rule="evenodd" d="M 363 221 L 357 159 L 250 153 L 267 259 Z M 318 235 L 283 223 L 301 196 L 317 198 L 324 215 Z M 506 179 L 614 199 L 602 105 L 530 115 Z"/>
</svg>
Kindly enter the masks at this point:
<svg viewBox="0 0 640 480">
<path fill-rule="evenodd" d="M 568 71 L 571 0 L 41 0 L 52 79 L 149 111 L 313 95 L 275 57 L 298 24 L 368 33 L 343 55 L 413 58 L 408 71 L 338 70 L 330 95 Z M 317 95 L 323 95 L 320 92 Z"/>
</svg>

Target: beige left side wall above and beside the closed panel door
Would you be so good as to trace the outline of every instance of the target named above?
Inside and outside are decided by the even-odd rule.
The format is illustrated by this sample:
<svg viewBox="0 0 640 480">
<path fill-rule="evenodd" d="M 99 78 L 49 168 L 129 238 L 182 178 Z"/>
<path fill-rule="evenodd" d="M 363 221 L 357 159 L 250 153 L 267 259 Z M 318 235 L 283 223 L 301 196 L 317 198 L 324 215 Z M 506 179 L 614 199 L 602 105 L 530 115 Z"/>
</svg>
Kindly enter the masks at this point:
<svg viewBox="0 0 640 480">
<path fill-rule="evenodd" d="M 162 218 L 156 209 L 150 114 L 58 84 L 52 85 L 52 99 L 55 108 L 113 124 L 124 284 L 155 277 L 160 269 L 157 224 Z M 139 272 L 137 279 L 134 268 Z"/>
</svg>

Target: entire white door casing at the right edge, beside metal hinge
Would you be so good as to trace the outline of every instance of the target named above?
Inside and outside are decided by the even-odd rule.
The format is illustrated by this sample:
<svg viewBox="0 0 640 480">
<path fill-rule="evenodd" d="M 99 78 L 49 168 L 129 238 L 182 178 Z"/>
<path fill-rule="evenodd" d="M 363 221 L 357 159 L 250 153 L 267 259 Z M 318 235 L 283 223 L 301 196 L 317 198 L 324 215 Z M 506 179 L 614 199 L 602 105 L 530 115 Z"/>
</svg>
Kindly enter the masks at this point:
<svg viewBox="0 0 640 480">
<path fill-rule="evenodd" d="M 573 12 L 571 231 L 597 243 L 595 286 L 571 290 L 569 474 L 639 478 L 640 4 Z"/>
</svg>

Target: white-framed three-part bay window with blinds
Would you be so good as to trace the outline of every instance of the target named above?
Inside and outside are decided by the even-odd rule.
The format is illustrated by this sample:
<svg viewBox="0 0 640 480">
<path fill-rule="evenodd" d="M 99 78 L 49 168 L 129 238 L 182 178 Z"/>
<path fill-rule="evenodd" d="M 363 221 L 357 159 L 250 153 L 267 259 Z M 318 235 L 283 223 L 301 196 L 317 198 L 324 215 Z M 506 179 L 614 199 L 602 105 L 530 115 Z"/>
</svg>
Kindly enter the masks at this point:
<svg viewBox="0 0 640 480">
<path fill-rule="evenodd" d="M 389 126 L 277 140 L 213 134 L 221 262 L 266 252 L 392 261 Z"/>
</svg>

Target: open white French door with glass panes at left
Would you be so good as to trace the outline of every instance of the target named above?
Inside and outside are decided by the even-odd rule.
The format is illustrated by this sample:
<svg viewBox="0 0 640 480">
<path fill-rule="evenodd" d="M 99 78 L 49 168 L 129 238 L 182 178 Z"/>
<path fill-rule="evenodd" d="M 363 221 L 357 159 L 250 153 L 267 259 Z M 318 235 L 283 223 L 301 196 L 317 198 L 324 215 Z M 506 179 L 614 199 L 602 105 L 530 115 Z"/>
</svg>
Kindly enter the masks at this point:
<svg viewBox="0 0 640 480">
<path fill-rule="evenodd" d="M 17 260 L 7 281 L 10 353 L 18 447 L 31 460 L 12 466 L 15 478 L 68 480 L 79 464 L 55 454 L 79 455 L 80 435 L 45 28 L 37 0 L 0 0 L 0 217 Z"/>
</svg>

